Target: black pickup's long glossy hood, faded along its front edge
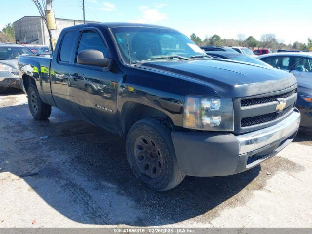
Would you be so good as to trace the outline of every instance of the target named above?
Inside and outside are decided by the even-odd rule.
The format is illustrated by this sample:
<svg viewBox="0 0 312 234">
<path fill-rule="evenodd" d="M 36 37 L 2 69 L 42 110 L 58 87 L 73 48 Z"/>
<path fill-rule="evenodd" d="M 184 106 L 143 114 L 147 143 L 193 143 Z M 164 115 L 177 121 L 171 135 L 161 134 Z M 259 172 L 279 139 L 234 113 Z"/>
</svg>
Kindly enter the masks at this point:
<svg viewBox="0 0 312 234">
<path fill-rule="evenodd" d="M 258 95 L 296 84 L 291 73 L 234 60 L 158 60 L 145 62 L 140 67 L 201 81 L 220 97 Z"/>
</svg>

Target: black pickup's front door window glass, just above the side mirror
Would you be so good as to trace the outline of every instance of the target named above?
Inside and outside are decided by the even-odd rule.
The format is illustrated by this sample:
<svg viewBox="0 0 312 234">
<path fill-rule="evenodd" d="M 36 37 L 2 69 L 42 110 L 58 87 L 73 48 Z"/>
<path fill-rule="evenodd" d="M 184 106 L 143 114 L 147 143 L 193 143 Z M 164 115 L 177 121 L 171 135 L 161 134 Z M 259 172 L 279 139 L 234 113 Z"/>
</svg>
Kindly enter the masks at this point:
<svg viewBox="0 0 312 234">
<path fill-rule="evenodd" d="M 104 54 L 105 58 L 108 58 L 107 47 L 104 45 L 104 42 L 98 33 L 94 31 L 84 31 L 82 33 L 77 55 L 83 50 L 98 50 Z"/>
</svg>

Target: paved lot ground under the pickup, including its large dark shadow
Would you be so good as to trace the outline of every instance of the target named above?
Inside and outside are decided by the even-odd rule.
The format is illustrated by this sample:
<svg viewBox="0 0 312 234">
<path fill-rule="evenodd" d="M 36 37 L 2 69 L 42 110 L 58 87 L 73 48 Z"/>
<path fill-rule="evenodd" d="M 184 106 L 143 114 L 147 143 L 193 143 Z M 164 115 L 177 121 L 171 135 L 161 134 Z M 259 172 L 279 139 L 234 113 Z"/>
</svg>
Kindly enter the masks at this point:
<svg viewBox="0 0 312 234">
<path fill-rule="evenodd" d="M 155 192 L 131 174 L 117 135 L 26 95 L 0 96 L 0 227 L 312 227 L 312 134 L 234 176 L 187 176 Z"/>
</svg>

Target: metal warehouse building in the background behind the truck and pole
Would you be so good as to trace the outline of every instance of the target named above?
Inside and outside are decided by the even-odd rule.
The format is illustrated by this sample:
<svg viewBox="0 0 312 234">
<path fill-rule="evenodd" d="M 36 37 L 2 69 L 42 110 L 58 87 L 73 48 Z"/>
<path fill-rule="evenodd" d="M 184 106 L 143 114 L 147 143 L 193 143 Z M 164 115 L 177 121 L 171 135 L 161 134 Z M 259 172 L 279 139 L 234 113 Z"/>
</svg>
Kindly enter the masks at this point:
<svg viewBox="0 0 312 234">
<path fill-rule="evenodd" d="M 60 32 L 66 28 L 78 24 L 83 24 L 83 20 L 69 20 L 55 18 L 57 25 L 56 36 L 59 38 Z M 93 21 L 86 21 L 86 23 L 98 23 Z M 48 29 L 41 16 L 24 16 L 13 23 L 15 40 L 17 43 L 27 43 L 33 45 L 49 45 Z M 38 40 L 36 40 L 38 39 Z"/>
</svg>

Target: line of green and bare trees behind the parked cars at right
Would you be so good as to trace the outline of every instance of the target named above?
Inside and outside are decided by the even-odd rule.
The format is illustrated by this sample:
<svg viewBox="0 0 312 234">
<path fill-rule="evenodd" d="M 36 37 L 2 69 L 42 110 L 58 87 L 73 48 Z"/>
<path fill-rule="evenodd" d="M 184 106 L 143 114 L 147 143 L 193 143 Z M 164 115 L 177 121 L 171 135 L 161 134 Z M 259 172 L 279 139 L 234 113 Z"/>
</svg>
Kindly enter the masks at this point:
<svg viewBox="0 0 312 234">
<path fill-rule="evenodd" d="M 270 48 L 270 49 L 297 49 L 297 50 L 309 50 L 312 48 L 312 39 L 308 38 L 307 43 L 301 43 L 295 41 L 293 44 L 285 44 L 283 40 L 276 39 L 275 34 L 266 33 L 262 34 L 260 40 L 256 40 L 253 36 L 245 38 L 245 35 L 240 33 L 237 35 L 237 39 L 221 39 L 217 34 L 201 39 L 195 33 L 192 33 L 190 39 L 197 45 L 213 45 L 213 46 L 247 46 L 252 48 Z"/>
</svg>

